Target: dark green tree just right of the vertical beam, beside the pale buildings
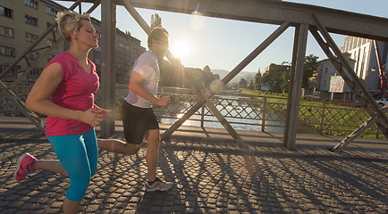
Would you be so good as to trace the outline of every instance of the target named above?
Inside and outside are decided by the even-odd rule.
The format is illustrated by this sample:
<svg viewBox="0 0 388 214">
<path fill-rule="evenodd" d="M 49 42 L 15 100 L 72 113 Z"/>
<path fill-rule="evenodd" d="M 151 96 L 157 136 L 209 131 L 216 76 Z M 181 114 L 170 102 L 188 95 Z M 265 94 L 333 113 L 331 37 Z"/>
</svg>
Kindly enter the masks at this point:
<svg viewBox="0 0 388 214">
<path fill-rule="evenodd" d="M 308 93 L 313 91 L 313 82 L 312 79 L 318 70 L 318 56 L 314 54 L 309 54 L 305 58 L 304 71 L 303 71 L 303 80 L 302 87 L 305 88 Z"/>
</svg>

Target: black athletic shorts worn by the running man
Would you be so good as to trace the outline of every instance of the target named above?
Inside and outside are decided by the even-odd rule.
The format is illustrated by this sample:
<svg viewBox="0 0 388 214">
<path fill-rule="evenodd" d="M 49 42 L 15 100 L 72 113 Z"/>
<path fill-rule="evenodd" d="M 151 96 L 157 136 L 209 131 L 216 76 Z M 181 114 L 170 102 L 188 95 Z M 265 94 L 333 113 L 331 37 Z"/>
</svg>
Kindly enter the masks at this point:
<svg viewBox="0 0 388 214">
<path fill-rule="evenodd" d="M 152 108 L 140 108 L 125 100 L 122 102 L 122 126 L 125 140 L 129 144 L 141 144 L 146 131 L 159 129 Z"/>
</svg>

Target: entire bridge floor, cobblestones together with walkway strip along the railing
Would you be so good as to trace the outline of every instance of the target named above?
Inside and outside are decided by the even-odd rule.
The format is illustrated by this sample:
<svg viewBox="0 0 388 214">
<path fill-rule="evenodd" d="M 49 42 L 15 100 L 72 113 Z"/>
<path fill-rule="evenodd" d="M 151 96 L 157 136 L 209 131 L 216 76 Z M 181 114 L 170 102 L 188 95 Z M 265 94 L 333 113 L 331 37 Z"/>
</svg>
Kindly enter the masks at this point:
<svg viewBox="0 0 388 214">
<path fill-rule="evenodd" d="M 117 122 L 112 137 L 122 138 Z M 162 125 L 164 131 L 167 126 Z M 181 127 L 162 143 L 158 174 L 167 193 L 147 193 L 146 149 L 122 156 L 100 151 L 81 213 L 386 213 L 387 152 L 382 139 L 358 138 L 343 152 L 326 150 L 342 137 L 298 135 L 286 151 L 282 134 Z M 16 182 L 22 152 L 55 159 L 46 137 L 27 119 L 0 118 L 0 212 L 60 213 L 69 179 L 38 171 Z"/>
</svg>

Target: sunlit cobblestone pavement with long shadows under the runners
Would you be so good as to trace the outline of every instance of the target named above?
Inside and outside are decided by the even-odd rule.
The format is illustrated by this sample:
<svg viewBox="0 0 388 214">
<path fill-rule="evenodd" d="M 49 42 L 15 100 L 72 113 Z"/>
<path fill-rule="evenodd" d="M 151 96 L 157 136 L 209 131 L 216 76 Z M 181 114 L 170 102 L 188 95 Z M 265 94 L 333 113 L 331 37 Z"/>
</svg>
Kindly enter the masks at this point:
<svg viewBox="0 0 388 214">
<path fill-rule="evenodd" d="M 16 182 L 22 152 L 55 159 L 46 142 L 0 143 L 0 213 L 58 213 L 69 179 L 39 171 Z M 248 154 L 167 146 L 158 174 L 167 193 L 145 192 L 146 150 L 100 151 L 82 213 L 387 213 L 387 161 Z"/>
</svg>

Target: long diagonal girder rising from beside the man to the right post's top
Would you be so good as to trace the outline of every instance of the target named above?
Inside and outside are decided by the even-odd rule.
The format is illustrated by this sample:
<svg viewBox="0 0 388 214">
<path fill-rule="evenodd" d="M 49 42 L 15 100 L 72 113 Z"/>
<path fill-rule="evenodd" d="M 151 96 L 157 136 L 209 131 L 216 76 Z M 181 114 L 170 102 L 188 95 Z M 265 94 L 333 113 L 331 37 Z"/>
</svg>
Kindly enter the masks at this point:
<svg viewBox="0 0 388 214">
<path fill-rule="evenodd" d="M 241 70 L 243 70 L 249 62 L 252 62 L 258 54 L 262 53 L 268 45 L 270 45 L 274 40 L 282 35 L 284 30 L 288 29 L 290 26 L 289 22 L 284 22 L 278 29 L 274 30 L 274 32 L 266 38 L 266 40 L 257 46 L 257 48 L 252 52 L 249 53 L 249 55 L 239 63 L 231 72 L 229 72 L 218 84 L 216 84 L 214 87 L 212 87 L 211 92 L 207 93 L 207 97 L 211 98 L 216 94 L 216 92 L 219 92 L 224 85 L 229 83 L 229 81 L 232 80 Z M 170 128 L 168 128 L 162 135 L 162 139 L 165 137 L 171 136 L 174 131 L 176 131 L 178 128 L 181 127 L 181 125 L 191 117 L 198 109 L 206 103 L 206 100 L 201 99 L 198 101 L 198 103 L 194 104 L 189 111 L 187 111 L 180 119 L 178 119 Z"/>
</svg>

